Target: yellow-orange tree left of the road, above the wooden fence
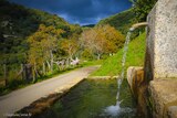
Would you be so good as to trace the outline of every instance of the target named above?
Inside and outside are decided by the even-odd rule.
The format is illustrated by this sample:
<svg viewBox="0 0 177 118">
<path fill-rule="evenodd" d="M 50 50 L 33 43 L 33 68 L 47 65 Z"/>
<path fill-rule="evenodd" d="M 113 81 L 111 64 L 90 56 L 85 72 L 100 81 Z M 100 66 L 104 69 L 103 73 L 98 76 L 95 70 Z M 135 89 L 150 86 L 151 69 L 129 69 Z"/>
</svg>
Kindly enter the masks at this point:
<svg viewBox="0 0 177 118">
<path fill-rule="evenodd" d="M 30 50 L 28 61 L 35 69 L 41 68 L 46 63 L 51 72 L 53 71 L 53 52 L 58 46 L 58 39 L 61 37 L 62 33 L 61 29 L 41 24 L 39 30 L 29 36 Z"/>
</svg>

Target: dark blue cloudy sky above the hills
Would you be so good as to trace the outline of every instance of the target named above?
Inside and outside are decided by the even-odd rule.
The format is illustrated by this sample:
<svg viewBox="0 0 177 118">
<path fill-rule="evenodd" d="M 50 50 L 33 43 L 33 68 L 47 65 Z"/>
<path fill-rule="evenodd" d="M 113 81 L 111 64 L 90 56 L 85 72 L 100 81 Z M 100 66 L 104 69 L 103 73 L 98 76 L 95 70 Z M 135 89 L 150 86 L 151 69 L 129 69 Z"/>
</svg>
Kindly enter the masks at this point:
<svg viewBox="0 0 177 118">
<path fill-rule="evenodd" d="M 132 7 L 129 0 L 9 0 L 64 18 L 70 23 L 95 24 Z"/>
</svg>

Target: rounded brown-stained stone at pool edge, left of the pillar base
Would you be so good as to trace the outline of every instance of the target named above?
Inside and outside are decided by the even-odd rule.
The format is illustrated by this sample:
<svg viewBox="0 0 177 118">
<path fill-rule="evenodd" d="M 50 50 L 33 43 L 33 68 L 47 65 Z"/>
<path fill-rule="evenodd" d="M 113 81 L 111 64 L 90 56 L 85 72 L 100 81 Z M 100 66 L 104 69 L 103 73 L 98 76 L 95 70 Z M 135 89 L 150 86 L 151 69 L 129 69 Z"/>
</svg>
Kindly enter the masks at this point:
<svg viewBox="0 0 177 118">
<path fill-rule="evenodd" d="M 144 82 L 144 68 L 132 66 L 127 69 L 127 81 L 137 100 L 137 111 L 139 116 L 147 117 L 146 92 L 147 85 Z"/>
</svg>

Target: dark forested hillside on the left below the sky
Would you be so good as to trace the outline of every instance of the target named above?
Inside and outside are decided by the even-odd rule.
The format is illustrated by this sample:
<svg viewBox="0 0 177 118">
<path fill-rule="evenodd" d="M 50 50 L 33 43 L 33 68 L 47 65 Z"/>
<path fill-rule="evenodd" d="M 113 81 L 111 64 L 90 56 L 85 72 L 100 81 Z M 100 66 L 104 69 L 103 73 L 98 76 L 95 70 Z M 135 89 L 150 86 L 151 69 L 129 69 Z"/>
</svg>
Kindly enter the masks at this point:
<svg viewBox="0 0 177 118">
<path fill-rule="evenodd" d="M 79 25 L 69 24 L 63 18 L 37 9 L 29 9 L 7 0 L 0 0 L 0 54 L 6 54 L 13 60 L 13 55 L 24 55 L 28 51 L 27 37 L 39 29 L 40 24 L 52 25 L 65 31 L 67 37 L 79 29 Z M 23 56 L 21 56 L 23 58 Z M 9 58 L 9 57 L 8 57 Z M 2 60 L 1 60 L 2 61 Z"/>
</svg>

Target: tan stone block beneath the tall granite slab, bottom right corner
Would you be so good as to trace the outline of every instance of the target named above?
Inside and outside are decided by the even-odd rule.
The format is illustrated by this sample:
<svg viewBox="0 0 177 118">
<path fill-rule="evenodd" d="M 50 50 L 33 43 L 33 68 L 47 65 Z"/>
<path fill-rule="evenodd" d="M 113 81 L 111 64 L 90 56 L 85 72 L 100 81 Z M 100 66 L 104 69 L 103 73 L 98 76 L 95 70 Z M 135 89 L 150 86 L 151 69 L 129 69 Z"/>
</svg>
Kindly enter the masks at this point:
<svg viewBox="0 0 177 118">
<path fill-rule="evenodd" d="M 154 118 L 176 118 L 177 79 L 154 79 L 149 83 L 149 94 L 153 100 Z M 170 116 L 170 117 L 169 117 Z"/>
</svg>

